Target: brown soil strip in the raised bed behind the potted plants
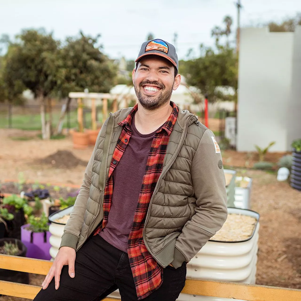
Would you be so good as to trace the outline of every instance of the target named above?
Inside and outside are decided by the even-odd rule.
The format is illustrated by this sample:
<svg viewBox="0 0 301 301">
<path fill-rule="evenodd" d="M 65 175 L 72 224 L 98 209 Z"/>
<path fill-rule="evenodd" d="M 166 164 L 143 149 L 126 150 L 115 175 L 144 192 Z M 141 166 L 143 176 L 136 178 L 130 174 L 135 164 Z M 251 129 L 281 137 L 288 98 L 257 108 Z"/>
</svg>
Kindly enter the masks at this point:
<svg viewBox="0 0 301 301">
<path fill-rule="evenodd" d="M 66 199 L 68 196 L 76 196 L 79 188 L 71 187 L 56 187 L 53 185 L 43 184 L 45 189 L 48 189 L 50 197 L 59 199 L 60 197 Z M 54 189 L 55 188 L 55 189 Z M 4 182 L 1 185 L 2 193 L 20 194 L 21 191 L 30 192 L 36 189 L 36 184 L 26 183 L 19 185 L 15 182 Z"/>
</svg>

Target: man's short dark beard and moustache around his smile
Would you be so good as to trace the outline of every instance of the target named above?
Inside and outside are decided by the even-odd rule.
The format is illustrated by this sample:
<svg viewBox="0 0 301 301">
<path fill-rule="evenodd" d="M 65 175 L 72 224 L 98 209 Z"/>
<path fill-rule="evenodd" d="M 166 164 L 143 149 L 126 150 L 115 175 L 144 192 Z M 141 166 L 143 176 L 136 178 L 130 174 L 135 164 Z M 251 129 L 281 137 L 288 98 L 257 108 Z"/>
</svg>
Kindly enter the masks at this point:
<svg viewBox="0 0 301 301">
<path fill-rule="evenodd" d="M 160 94 L 159 95 L 142 95 L 141 89 L 143 89 L 144 85 L 156 85 L 160 88 Z M 135 93 L 138 97 L 138 101 L 141 104 L 144 109 L 153 111 L 167 102 L 169 103 L 171 95 L 172 95 L 172 88 L 170 90 L 166 90 L 165 85 L 159 83 L 159 82 L 149 82 L 144 81 L 141 82 L 139 85 L 134 84 Z"/>
</svg>

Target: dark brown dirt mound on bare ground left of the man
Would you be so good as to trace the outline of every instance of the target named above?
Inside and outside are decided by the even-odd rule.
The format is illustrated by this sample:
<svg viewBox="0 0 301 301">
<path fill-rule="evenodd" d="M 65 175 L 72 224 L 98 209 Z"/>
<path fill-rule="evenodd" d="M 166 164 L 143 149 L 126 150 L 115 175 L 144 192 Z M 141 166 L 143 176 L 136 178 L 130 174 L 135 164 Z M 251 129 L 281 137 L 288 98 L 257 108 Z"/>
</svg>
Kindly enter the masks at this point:
<svg viewBox="0 0 301 301">
<path fill-rule="evenodd" d="M 70 151 L 59 150 L 43 159 L 39 160 L 40 164 L 50 164 L 56 168 L 73 168 L 78 165 L 87 166 L 88 162 L 75 157 Z"/>
</svg>

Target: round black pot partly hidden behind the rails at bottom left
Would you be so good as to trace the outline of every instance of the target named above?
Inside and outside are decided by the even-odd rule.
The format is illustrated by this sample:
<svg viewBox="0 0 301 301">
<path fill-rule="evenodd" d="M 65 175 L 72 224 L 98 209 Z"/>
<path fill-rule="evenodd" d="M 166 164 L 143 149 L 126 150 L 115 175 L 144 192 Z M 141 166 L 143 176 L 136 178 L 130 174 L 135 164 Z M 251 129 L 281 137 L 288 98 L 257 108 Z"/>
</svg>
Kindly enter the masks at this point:
<svg viewBox="0 0 301 301">
<path fill-rule="evenodd" d="M 5 241 L 7 241 L 8 243 L 15 243 L 16 240 L 19 249 L 22 250 L 22 253 L 19 256 L 25 257 L 27 248 L 25 247 L 25 245 L 22 243 L 21 240 L 14 239 L 14 238 L 2 238 L 0 239 L 0 247 L 4 246 Z M 5 270 L 1 268 L 0 280 L 29 284 L 29 274 L 25 272 L 17 272 L 17 271 Z"/>
</svg>

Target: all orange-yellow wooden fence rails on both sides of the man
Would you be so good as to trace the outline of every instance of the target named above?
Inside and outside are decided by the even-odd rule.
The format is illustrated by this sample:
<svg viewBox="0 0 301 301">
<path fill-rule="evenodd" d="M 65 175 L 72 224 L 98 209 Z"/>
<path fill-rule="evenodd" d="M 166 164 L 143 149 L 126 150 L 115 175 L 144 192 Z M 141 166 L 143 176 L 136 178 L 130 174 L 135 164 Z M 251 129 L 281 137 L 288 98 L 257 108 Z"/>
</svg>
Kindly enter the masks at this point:
<svg viewBox="0 0 301 301">
<path fill-rule="evenodd" d="M 0 255 L 0 268 L 47 275 L 52 262 L 18 256 Z M 33 299 L 41 287 L 0 281 L 0 294 Z M 301 290 L 235 282 L 218 282 L 187 279 L 182 293 L 232 298 L 248 301 L 301 301 Z M 118 300 L 105 298 L 104 301 Z"/>
</svg>

